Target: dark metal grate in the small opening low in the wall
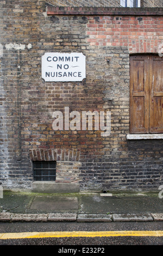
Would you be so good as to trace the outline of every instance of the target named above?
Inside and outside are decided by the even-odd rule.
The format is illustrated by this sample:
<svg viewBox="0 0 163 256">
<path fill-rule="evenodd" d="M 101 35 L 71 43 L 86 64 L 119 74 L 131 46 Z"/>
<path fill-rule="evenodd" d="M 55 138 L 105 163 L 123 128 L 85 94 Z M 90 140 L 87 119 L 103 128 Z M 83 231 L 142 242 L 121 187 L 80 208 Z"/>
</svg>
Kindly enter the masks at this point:
<svg viewBox="0 0 163 256">
<path fill-rule="evenodd" d="M 54 181 L 56 179 L 56 161 L 34 161 L 34 180 Z"/>
</svg>

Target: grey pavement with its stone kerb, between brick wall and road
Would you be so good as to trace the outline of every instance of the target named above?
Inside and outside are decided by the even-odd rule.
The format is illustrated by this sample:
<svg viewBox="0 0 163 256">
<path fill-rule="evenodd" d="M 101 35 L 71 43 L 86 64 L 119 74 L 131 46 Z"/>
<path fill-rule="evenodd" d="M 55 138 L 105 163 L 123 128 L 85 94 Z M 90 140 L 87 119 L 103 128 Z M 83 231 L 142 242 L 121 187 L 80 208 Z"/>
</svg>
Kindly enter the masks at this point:
<svg viewBox="0 0 163 256">
<path fill-rule="evenodd" d="M 47 194 L 3 191 L 0 222 L 163 221 L 159 192 Z"/>
</svg>

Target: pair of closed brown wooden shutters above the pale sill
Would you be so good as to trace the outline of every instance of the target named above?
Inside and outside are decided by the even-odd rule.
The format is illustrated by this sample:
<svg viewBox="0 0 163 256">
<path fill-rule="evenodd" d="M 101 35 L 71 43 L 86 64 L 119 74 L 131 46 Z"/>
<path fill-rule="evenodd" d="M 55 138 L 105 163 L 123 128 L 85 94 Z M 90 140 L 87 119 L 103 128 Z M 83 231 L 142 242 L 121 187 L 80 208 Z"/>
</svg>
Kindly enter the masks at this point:
<svg viewBox="0 0 163 256">
<path fill-rule="evenodd" d="M 130 56 L 130 133 L 163 133 L 163 58 Z"/>
</svg>

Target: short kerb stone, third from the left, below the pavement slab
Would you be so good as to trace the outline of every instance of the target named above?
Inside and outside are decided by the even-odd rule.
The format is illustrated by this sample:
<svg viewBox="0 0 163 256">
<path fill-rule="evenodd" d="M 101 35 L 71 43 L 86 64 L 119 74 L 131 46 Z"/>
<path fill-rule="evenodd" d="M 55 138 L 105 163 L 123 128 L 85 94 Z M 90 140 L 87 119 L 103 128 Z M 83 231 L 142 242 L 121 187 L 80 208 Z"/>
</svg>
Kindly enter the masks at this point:
<svg viewBox="0 0 163 256">
<path fill-rule="evenodd" d="M 76 221 L 77 215 L 76 214 L 67 214 L 67 213 L 60 213 L 60 214 L 49 214 L 48 221 Z"/>
</svg>

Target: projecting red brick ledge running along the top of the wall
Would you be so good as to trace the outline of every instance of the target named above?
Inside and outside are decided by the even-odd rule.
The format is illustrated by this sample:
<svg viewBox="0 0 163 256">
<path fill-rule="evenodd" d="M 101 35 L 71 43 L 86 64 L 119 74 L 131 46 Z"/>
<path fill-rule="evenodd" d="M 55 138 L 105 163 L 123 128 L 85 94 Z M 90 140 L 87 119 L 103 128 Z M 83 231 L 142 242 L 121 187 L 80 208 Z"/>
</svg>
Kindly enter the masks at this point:
<svg viewBox="0 0 163 256">
<path fill-rule="evenodd" d="M 163 8 L 54 7 L 47 4 L 47 15 L 136 15 L 162 16 Z"/>
</svg>

